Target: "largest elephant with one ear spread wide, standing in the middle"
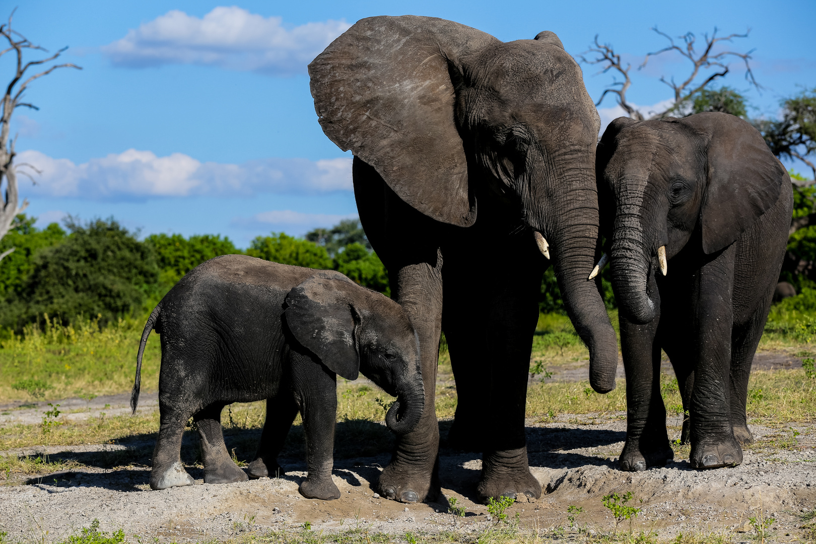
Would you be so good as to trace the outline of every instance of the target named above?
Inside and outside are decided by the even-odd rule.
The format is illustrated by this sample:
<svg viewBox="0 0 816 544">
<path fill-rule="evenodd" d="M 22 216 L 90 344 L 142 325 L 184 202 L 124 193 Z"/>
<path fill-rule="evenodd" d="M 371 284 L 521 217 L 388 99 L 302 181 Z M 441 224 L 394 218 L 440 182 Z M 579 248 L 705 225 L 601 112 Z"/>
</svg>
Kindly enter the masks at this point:
<svg viewBox="0 0 816 544">
<path fill-rule="evenodd" d="M 479 497 L 538 498 L 524 416 L 551 260 L 596 391 L 614 388 L 617 365 L 614 330 L 587 280 L 600 120 L 578 64 L 552 32 L 504 43 L 405 15 L 358 21 L 309 74 L 323 130 L 354 154 L 363 228 L 419 334 L 425 411 L 398 440 L 379 493 L 417 502 L 439 490 L 434 394 L 444 330 L 459 395 L 450 438 L 484 452 Z"/>
</svg>

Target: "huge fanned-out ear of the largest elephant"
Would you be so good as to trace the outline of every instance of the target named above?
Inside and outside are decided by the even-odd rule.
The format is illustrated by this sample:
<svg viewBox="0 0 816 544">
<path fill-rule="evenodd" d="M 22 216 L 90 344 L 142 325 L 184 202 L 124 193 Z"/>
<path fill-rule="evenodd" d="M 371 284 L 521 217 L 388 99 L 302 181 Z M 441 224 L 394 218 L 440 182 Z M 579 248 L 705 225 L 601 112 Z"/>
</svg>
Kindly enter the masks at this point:
<svg viewBox="0 0 816 544">
<path fill-rule="evenodd" d="M 323 131 L 432 219 L 468 227 L 476 201 L 454 120 L 456 59 L 499 40 L 433 17 L 357 21 L 308 66 Z"/>
</svg>

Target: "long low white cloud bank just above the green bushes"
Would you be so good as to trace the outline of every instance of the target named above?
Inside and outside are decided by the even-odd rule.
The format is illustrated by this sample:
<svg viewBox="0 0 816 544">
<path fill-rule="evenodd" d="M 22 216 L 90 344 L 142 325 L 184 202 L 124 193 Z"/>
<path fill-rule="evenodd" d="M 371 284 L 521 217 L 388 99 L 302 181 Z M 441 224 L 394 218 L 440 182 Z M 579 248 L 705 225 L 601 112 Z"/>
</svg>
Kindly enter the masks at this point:
<svg viewBox="0 0 816 544">
<path fill-rule="evenodd" d="M 350 158 L 269 158 L 243 164 L 201 162 L 183 153 L 157 157 L 128 149 L 82 164 L 24 151 L 17 162 L 40 170 L 33 194 L 122 201 L 134 197 L 251 197 L 261 192 L 314 194 L 352 190 Z M 30 170 L 29 170 L 30 171 Z"/>
</svg>

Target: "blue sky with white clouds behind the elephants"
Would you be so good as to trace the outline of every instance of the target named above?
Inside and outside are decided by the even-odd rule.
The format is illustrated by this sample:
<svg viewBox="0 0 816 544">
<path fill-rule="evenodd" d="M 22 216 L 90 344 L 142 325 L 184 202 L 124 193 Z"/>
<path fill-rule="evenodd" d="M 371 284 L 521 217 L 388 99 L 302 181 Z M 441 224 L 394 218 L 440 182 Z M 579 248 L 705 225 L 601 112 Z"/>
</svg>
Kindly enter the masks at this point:
<svg viewBox="0 0 816 544">
<path fill-rule="evenodd" d="M 0 15 L 13 4 L 0 3 Z M 19 108 L 20 161 L 42 170 L 22 180 L 40 225 L 65 214 L 113 215 L 127 228 L 220 233 L 239 247 L 259 234 L 302 235 L 356 215 L 350 156 L 323 135 L 306 64 L 356 20 L 432 15 L 499 39 L 558 34 L 568 52 L 601 42 L 638 64 L 665 45 L 650 30 L 744 33 L 758 93 L 738 62 L 724 83 L 744 91 L 754 115 L 774 115 L 800 86 L 816 86 L 816 2 L 20 2 L 14 28 L 51 51 L 69 46 L 63 69 L 31 86 L 39 111 Z M 9 59 L 0 59 L 6 82 Z M 597 100 L 610 75 L 584 66 Z M 685 76 L 677 56 L 632 69 L 628 99 L 647 108 L 671 96 L 661 75 Z M 601 117 L 619 114 L 614 100 Z M 807 170 L 800 168 L 803 173 Z"/>
</svg>

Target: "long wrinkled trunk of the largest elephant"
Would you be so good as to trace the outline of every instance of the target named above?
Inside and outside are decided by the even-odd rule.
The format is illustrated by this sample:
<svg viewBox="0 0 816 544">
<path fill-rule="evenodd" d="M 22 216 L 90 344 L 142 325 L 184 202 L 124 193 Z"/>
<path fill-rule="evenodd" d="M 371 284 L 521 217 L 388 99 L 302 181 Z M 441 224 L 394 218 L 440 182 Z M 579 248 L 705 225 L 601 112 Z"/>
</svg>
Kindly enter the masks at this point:
<svg viewBox="0 0 816 544">
<path fill-rule="evenodd" d="M 576 187 L 565 198 L 575 206 L 563 206 L 555 215 L 551 252 L 566 311 L 589 348 L 589 382 L 595 391 L 607 393 L 615 387 L 618 343 L 596 282 L 588 280 L 598 245 L 594 171 L 584 172 L 581 179 L 581 184 L 564 183 Z M 587 182 L 591 185 L 583 187 Z"/>
</svg>

